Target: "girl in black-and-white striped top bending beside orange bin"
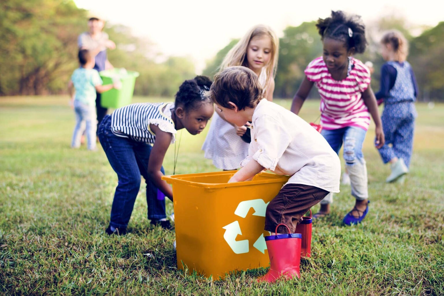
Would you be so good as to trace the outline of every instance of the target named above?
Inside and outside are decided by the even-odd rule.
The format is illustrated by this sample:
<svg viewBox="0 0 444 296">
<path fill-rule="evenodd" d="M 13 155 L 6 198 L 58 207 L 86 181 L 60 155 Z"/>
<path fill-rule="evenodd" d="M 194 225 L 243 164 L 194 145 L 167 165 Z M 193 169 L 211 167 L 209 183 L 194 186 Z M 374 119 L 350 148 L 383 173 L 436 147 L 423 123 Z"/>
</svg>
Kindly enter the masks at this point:
<svg viewBox="0 0 444 296">
<path fill-rule="evenodd" d="M 196 135 L 205 128 L 214 112 L 212 101 L 205 95 L 210 86 L 209 78 L 196 76 L 182 83 L 174 103 L 131 104 L 103 118 L 100 144 L 119 178 L 107 234 L 126 234 L 140 175 L 147 183 L 148 219 L 151 224 L 171 227 L 164 197 L 173 200 L 173 192 L 161 179 L 165 173 L 163 158 L 175 142 L 177 130 L 185 128 Z"/>
</svg>

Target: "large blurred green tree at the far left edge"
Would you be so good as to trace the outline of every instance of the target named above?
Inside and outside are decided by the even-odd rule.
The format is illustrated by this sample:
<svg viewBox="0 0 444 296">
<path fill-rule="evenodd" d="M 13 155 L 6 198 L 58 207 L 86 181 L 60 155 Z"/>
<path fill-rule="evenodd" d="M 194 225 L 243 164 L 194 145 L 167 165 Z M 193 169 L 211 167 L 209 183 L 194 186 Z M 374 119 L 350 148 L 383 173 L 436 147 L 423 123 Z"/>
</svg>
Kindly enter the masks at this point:
<svg viewBox="0 0 444 296">
<path fill-rule="evenodd" d="M 60 78 L 77 64 L 77 34 L 85 19 L 86 12 L 72 1 L 3 0 L 0 94 L 63 90 Z"/>
</svg>

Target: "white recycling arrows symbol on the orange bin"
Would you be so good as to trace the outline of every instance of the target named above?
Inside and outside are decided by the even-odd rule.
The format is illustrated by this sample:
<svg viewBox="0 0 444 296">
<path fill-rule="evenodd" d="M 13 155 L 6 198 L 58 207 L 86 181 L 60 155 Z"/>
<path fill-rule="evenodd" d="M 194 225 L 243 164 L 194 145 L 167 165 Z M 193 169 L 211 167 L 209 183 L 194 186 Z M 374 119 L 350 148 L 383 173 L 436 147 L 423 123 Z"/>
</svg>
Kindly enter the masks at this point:
<svg viewBox="0 0 444 296">
<path fill-rule="evenodd" d="M 234 214 L 238 215 L 239 217 L 245 218 L 250 209 L 253 208 L 254 216 L 265 217 L 265 211 L 268 204 L 269 203 L 265 203 L 262 199 L 245 200 L 238 204 L 238 207 L 234 211 Z M 243 253 L 248 253 L 250 251 L 249 241 L 247 239 L 242 241 L 236 241 L 236 237 L 238 236 L 238 234 L 242 235 L 239 221 L 236 220 L 226 226 L 223 226 L 222 228 L 225 229 L 223 238 L 225 239 L 225 241 L 227 242 L 227 244 L 230 246 L 230 248 L 233 250 L 234 253 L 243 254 Z M 253 246 L 254 248 L 258 249 L 262 254 L 265 253 L 267 245 L 265 243 L 265 238 L 263 233 L 254 242 Z"/>
</svg>

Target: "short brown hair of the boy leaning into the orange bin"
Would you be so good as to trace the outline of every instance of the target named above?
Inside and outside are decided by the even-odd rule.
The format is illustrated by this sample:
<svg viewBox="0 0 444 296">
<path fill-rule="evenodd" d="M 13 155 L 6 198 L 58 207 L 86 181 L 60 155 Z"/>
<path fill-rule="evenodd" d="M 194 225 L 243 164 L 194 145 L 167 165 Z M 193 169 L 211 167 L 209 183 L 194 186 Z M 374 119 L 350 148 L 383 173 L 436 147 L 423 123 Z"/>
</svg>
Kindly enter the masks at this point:
<svg viewBox="0 0 444 296">
<path fill-rule="evenodd" d="M 263 98 L 258 75 L 244 66 L 232 66 L 214 76 L 208 91 L 211 100 L 222 107 L 233 109 L 233 102 L 239 110 L 254 108 Z"/>
</svg>

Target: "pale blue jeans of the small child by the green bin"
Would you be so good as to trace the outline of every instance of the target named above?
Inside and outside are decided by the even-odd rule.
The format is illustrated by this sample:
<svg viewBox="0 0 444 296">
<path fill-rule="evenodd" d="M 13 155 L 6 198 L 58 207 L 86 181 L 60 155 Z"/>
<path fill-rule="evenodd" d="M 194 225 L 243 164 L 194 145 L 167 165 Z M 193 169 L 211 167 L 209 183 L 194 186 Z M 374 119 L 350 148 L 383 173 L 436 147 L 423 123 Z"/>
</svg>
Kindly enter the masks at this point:
<svg viewBox="0 0 444 296">
<path fill-rule="evenodd" d="M 71 147 L 80 147 L 80 137 L 83 133 L 82 123 L 85 122 L 88 149 L 95 149 L 95 121 L 97 120 L 97 116 L 94 105 L 86 105 L 78 100 L 74 100 L 74 111 L 76 123 L 72 134 Z"/>
</svg>

